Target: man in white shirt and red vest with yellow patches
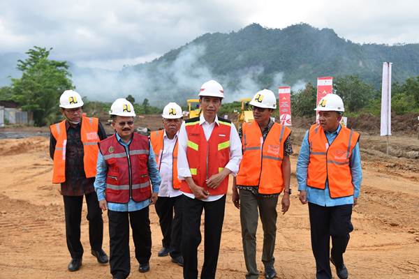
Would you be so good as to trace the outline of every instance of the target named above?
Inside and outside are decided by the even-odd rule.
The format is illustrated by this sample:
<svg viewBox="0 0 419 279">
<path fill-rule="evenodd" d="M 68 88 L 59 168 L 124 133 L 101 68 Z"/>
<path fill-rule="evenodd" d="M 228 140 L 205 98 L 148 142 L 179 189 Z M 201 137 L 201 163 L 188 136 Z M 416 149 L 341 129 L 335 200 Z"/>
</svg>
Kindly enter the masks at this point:
<svg viewBox="0 0 419 279">
<path fill-rule="evenodd" d="M 228 175 L 235 175 L 242 144 L 231 121 L 216 113 L 224 98 L 223 86 L 205 82 L 199 92 L 199 117 L 186 120 L 179 131 L 177 170 L 184 195 L 182 256 L 184 278 L 198 278 L 200 220 L 205 211 L 204 264 L 200 278 L 215 278 L 223 228 Z"/>
</svg>

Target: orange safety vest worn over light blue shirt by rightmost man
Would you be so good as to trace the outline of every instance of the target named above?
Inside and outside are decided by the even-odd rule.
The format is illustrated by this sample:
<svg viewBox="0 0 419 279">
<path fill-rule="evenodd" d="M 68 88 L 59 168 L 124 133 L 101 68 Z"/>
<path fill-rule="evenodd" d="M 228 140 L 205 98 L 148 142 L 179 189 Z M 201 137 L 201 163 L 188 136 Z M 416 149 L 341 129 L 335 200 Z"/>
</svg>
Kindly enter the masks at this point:
<svg viewBox="0 0 419 279">
<path fill-rule="evenodd" d="M 330 197 L 349 197 L 353 195 L 350 158 L 360 134 L 341 126 L 339 134 L 329 145 L 320 125 L 309 130 L 310 158 L 307 173 L 307 186 L 325 189 L 329 183 Z"/>
</svg>

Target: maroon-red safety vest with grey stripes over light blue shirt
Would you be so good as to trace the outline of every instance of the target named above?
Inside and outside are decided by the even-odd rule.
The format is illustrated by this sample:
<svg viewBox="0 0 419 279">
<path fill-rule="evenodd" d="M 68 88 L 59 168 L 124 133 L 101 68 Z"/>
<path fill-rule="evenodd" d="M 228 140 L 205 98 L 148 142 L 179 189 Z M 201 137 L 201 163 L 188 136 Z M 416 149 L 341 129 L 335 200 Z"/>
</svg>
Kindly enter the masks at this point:
<svg viewBox="0 0 419 279">
<path fill-rule="evenodd" d="M 126 204 L 129 199 L 142 202 L 152 196 L 147 167 L 149 140 L 138 133 L 133 133 L 129 144 L 129 154 L 117 140 L 117 136 L 108 137 L 99 143 L 99 148 L 106 165 L 106 200 Z"/>
</svg>

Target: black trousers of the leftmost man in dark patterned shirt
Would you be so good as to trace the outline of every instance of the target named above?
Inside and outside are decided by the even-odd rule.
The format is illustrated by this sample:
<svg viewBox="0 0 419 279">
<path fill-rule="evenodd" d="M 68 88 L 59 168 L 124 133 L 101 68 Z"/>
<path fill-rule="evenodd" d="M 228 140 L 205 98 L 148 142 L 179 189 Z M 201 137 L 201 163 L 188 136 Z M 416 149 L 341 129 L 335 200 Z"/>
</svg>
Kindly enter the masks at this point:
<svg viewBox="0 0 419 279">
<path fill-rule="evenodd" d="M 89 220 L 89 241 L 93 250 L 100 250 L 103 241 L 103 218 L 96 192 L 86 196 L 87 220 Z M 66 218 L 67 248 L 73 259 L 81 259 L 83 246 L 80 242 L 80 223 L 82 222 L 83 196 L 63 196 Z"/>
</svg>

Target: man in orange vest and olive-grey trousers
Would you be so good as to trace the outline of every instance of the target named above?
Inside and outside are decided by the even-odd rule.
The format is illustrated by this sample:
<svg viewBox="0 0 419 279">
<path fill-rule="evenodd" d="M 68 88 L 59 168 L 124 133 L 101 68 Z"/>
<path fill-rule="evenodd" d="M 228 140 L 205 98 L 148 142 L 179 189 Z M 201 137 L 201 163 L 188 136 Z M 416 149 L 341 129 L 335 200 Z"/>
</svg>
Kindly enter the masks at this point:
<svg viewBox="0 0 419 279">
<path fill-rule="evenodd" d="M 263 89 L 253 96 L 254 121 L 242 124 L 243 158 L 233 180 L 233 204 L 240 209 L 246 278 L 258 278 L 256 229 L 263 225 L 262 262 L 265 278 L 274 278 L 274 248 L 277 235 L 277 203 L 282 197 L 282 213 L 290 206 L 291 130 L 271 119 L 277 108 L 272 91 Z M 238 191 L 237 191 L 238 189 Z M 239 192 L 240 191 L 240 192 Z"/>
</svg>

